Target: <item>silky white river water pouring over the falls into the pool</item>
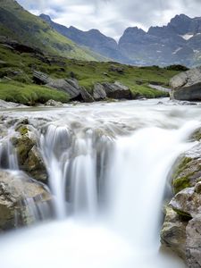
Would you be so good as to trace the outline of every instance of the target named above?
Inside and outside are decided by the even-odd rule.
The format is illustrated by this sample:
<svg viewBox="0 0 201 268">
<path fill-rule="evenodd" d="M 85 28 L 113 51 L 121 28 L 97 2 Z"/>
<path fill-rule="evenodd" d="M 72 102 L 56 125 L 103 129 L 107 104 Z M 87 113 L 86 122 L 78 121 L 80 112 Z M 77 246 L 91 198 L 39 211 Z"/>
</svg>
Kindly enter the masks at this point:
<svg viewBox="0 0 201 268">
<path fill-rule="evenodd" d="M 7 112 L 38 131 L 56 219 L 1 237 L 1 267 L 185 267 L 160 251 L 159 232 L 168 174 L 194 146 L 201 108 L 163 101 Z"/>
</svg>

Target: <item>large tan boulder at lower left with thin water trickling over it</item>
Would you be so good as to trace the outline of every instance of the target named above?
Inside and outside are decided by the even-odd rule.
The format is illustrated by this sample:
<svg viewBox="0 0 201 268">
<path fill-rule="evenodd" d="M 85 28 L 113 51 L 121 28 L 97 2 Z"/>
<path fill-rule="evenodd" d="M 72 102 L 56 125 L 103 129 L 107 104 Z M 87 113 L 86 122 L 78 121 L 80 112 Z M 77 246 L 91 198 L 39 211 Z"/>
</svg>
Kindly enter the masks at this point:
<svg viewBox="0 0 201 268">
<path fill-rule="evenodd" d="M 51 201 L 52 197 L 43 185 L 30 180 L 23 172 L 0 171 L 1 230 L 34 222 L 33 208 L 39 210 L 41 205 L 50 205 Z"/>
</svg>

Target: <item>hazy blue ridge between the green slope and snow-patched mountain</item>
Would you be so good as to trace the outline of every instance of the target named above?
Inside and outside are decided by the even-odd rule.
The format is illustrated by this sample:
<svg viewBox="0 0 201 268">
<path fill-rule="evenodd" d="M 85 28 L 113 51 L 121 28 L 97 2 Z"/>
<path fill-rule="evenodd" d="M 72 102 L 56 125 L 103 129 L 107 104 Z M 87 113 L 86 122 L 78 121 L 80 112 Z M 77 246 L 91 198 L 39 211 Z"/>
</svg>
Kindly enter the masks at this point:
<svg viewBox="0 0 201 268">
<path fill-rule="evenodd" d="M 106 37 L 98 29 L 82 31 L 72 26 L 67 28 L 61 24 L 55 23 L 46 14 L 41 14 L 39 17 L 46 21 L 53 29 L 62 34 L 64 37 L 70 38 L 80 46 L 87 46 L 95 53 L 102 54 L 115 61 L 129 61 L 128 58 L 121 54 L 117 42 L 113 38 Z"/>
</svg>

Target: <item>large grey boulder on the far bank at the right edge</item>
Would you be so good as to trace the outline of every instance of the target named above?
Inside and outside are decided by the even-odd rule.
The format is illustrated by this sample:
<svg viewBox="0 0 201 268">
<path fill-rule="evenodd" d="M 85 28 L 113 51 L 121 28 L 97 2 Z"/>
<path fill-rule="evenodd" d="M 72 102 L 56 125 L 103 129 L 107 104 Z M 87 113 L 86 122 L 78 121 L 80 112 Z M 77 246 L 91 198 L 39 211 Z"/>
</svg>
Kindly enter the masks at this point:
<svg viewBox="0 0 201 268">
<path fill-rule="evenodd" d="M 181 72 L 170 81 L 172 99 L 201 100 L 201 67 Z"/>
</svg>

